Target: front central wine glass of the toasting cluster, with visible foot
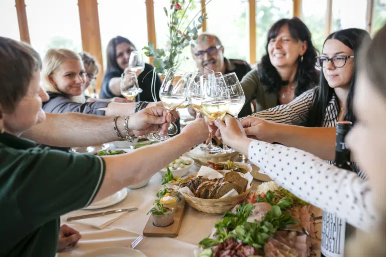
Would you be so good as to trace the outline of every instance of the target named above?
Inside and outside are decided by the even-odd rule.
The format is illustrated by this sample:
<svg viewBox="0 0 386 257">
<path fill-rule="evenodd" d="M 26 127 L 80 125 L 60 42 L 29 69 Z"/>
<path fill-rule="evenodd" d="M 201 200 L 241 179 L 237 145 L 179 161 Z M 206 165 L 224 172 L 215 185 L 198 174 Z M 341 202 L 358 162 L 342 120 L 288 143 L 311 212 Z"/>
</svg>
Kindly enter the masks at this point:
<svg viewBox="0 0 386 257">
<path fill-rule="evenodd" d="M 222 119 L 231 104 L 227 85 L 221 73 L 204 74 L 200 77 L 201 83 L 201 108 L 202 113 L 211 121 Z M 212 138 L 212 134 L 210 136 Z M 212 140 L 209 144 L 200 147 L 202 151 L 210 153 L 220 152 L 221 148 L 214 146 Z"/>
</svg>

